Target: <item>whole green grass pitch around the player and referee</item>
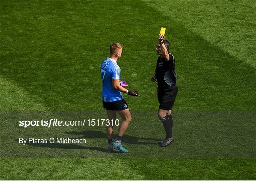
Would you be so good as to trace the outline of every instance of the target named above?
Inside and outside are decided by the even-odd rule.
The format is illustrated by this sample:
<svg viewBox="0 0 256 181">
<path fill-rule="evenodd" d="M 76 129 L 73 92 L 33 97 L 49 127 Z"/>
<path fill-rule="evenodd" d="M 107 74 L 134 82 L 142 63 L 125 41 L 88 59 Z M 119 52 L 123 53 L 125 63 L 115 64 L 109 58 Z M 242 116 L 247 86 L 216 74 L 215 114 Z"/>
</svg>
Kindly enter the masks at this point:
<svg viewBox="0 0 256 181">
<path fill-rule="evenodd" d="M 1 0 L 0 180 L 256 180 L 255 7 L 255 0 Z M 164 134 L 150 82 L 161 27 L 179 87 L 174 143 L 164 149 L 155 145 Z M 114 42 L 124 45 L 121 78 L 141 95 L 124 95 L 133 117 L 123 138 L 128 154 L 104 151 L 103 127 L 24 133 L 3 121 L 6 111 L 104 115 L 99 66 Z M 92 141 L 18 145 L 16 133 L 35 131 Z"/>
</svg>

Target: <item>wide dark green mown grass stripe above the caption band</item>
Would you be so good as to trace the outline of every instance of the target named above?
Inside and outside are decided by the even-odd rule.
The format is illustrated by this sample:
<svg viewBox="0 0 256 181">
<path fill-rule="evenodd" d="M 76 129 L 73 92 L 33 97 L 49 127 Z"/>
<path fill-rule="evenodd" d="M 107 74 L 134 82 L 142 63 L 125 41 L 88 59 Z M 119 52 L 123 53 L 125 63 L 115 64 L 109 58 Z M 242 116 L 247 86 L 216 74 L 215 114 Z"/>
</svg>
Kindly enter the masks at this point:
<svg viewBox="0 0 256 181">
<path fill-rule="evenodd" d="M 155 71 L 155 42 L 161 26 L 168 30 L 166 38 L 172 43 L 177 63 L 180 91 L 175 109 L 256 109 L 253 68 L 145 3 L 117 1 L 122 14 L 111 9 L 110 4 L 97 1 L 86 6 L 80 1 L 64 1 L 59 11 L 54 10 L 55 3 L 51 1 L 37 3 L 19 4 L 24 8 L 22 12 L 16 11 L 19 16 L 10 16 L 12 8 L 4 11 L 2 35 L 10 38 L 4 39 L 2 46 L 1 74 L 36 95 L 50 110 L 101 109 L 99 65 L 108 56 L 111 42 L 124 44 L 123 58 L 119 61 L 122 79 L 142 95 L 137 102 L 125 96 L 130 107 L 157 108 L 156 84 L 149 78 Z M 48 15 L 42 16 L 44 13 Z M 30 15 L 32 19 L 28 18 Z M 97 43 L 92 43 L 95 38 Z M 15 52 L 11 51 L 14 45 Z M 91 99 L 86 98 L 88 95 Z"/>
</svg>

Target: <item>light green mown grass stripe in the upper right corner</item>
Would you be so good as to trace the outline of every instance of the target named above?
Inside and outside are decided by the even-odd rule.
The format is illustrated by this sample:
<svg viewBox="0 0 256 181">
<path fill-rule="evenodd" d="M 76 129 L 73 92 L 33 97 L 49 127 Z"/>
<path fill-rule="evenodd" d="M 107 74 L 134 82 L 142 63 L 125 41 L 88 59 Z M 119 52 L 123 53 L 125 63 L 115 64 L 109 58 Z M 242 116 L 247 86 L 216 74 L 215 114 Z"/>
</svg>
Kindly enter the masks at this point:
<svg viewBox="0 0 256 181">
<path fill-rule="evenodd" d="M 254 0 L 143 1 L 256 70 Z"/>
</svg>

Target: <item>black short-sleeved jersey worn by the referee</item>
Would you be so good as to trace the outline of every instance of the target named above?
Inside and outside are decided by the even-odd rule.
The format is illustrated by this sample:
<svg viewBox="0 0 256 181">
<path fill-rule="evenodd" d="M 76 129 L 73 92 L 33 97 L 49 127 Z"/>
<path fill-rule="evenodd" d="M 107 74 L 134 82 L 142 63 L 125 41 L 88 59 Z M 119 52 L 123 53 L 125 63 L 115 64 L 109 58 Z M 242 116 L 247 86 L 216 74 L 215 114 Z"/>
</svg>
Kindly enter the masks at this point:
<svg viewBox="0 0 256 181">
<path fill-rule="evenodd" d="M 157 59 L 155 76 L 157 78 L 157 84 L 160 88 L 168 88 L 174 86 L 177 80 L 177 74 L 175 72 L 175 59 L 174 56 L 169 53 L 169 60 L 161 58 Z"/>
</svg>

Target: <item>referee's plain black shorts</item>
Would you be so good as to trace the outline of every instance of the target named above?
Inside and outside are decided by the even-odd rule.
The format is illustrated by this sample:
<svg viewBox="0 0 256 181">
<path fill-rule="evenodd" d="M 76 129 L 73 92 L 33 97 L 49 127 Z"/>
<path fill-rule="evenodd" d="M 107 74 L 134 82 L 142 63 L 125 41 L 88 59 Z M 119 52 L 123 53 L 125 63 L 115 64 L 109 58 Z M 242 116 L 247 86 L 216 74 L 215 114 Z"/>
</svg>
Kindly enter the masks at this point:
<svg viewBox="0 0 256 181">
<path fill-rule="evenodd" d="M 176 85 L 157 89 L 157 97 L 160 103 L 159 109 L 171 110 L 174 106 L 174 101 L 178 94 L 178 87 Z"/>
</svg>

